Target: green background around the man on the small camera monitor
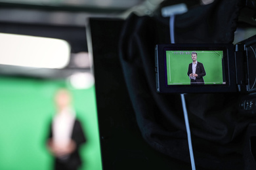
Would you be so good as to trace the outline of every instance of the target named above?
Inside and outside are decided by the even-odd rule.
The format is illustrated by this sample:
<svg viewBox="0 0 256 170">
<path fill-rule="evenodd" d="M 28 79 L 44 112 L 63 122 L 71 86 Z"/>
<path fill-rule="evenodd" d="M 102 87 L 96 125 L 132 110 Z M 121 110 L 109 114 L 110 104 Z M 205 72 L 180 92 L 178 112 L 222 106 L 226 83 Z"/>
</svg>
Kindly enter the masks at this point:
<svg viewBox="0 0 256 170">
<path fill-rule="evenodd" d="M 190 84 L 188 65 L 192 63 L 192 51 L 167 51 L 167 83 Z M 205 84 L 223 84 L 223 51 L 196 51 L 198 61 L 203 63 Z"/>
</svg>

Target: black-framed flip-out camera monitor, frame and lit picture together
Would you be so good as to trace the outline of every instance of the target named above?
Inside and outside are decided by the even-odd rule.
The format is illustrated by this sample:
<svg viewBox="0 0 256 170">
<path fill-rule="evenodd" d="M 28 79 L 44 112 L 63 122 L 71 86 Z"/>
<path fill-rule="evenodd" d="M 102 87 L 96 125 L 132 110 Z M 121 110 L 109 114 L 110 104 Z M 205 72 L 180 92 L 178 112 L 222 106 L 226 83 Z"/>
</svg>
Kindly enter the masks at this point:
<svg viewBox="0 0 256 170">
<path fill-rule="evenodd" d="M 236 91 L 232 44 L 158 44 L 156 69 L 158 92 Z"/>
</svg>

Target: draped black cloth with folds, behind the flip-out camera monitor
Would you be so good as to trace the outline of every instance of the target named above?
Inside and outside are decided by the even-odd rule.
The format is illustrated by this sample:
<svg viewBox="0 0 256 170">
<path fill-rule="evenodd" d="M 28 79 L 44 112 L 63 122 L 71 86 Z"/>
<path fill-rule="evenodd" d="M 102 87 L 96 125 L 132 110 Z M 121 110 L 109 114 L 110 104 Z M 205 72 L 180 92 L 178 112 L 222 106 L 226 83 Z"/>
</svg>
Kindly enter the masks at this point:
<svg viewBox="0 0 256 170">
<path fill-rule="evenodd" d="M 119 56 L 140 132 L 155 150 L 190 162 L 181 97 L 157 93 L 154 72 L 154 47 L 171 42 L 169 18 L 160 9 L 175 3 L 188 6 L 188 12 L 175 16 L 176 43 L 232 43 L 242 2 L 163 1 L 153 16 L 131 14 L 123 26 Z M 185 98 L 196 165 L 244 169 L 244 135 L 255 119 L 238 112 L 240 94 L 195 93 Z"/>
</svg>

